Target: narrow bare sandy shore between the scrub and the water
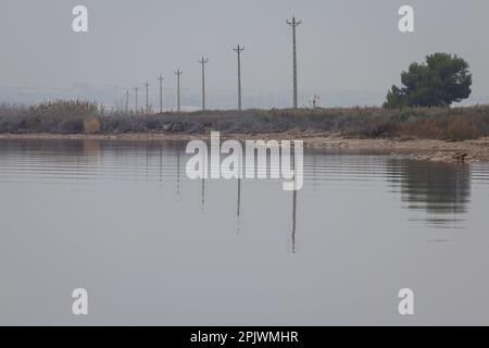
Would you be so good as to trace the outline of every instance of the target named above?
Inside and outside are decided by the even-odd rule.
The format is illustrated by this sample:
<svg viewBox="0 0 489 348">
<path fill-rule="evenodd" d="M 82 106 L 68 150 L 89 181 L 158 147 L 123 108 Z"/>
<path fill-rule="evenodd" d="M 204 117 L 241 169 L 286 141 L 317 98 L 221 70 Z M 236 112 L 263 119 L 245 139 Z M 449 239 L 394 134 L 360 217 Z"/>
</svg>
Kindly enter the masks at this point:
<svg viewBox="0 0 489 348">
<path fill-rule="evenodd" d="M 210 134 L 175 134 L 175 133 L 141 133 L 118 135 L 57 135 L 57 134 L 0 134 L 0 139 L 91 139 L 91 140 L 191 140 L 209 139 Z M 326 133 L 274 133 L 274 134 L 227 134 L 224 139 L 277 139 L 303 140 L 311 148 L 334 148 L 349 150 L 378 150 L 392 154 L 408 156 L 424 161 L 442 162 L 489 162 L 489 137 L 465 141 L 444 141 L 430 139 L 355 139 L 344 138 Z"/>
</svg>

